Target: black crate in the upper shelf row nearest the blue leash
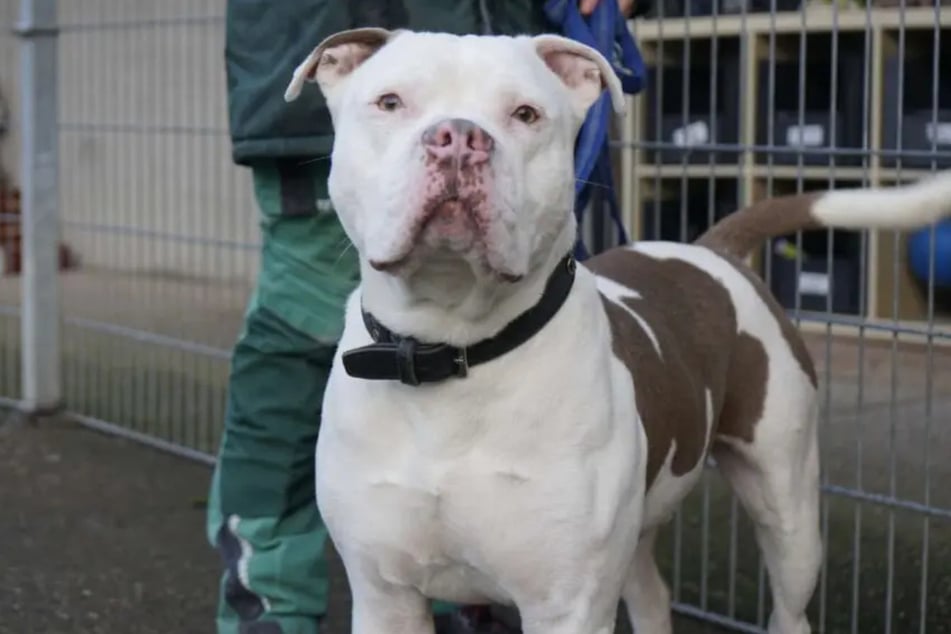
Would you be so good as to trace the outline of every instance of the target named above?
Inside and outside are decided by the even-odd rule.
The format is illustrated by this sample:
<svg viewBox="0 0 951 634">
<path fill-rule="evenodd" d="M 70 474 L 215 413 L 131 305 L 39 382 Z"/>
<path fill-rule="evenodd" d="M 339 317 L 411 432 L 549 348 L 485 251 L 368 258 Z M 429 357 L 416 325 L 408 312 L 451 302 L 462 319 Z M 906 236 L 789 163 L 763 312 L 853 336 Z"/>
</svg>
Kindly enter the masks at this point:
<svg viewBox="0 0 951 634">
<path fill-rule="evenodd" d="M 642 97 L 649 131 L 646 140 L 668 144 L 668 147 L 646 152 L 646 160 L 708 163 L 713 158 L 716 162 L 735 164 L 739 159 L 738 148 L 711 151 L 702 146 L 736 146 L 739 143 L 739 43 L 725 40 L 719 44 L 715 74 L 709 45 L 697 45 L 691 52 L 689 67 L 665 65 L 648 68 L 647 86 Z M 711 103 L 711 81 L 716 82 L 716 103 Z"/>
</svg>

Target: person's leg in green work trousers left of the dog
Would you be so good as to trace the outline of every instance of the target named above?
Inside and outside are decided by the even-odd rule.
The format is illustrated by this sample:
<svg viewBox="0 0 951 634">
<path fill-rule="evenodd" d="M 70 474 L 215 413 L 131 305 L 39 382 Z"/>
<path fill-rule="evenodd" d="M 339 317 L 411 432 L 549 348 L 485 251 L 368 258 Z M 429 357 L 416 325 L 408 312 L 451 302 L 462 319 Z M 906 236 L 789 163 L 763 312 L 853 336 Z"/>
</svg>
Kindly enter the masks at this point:
<svg viewBox="0 0 951 634">
<path fill-rule="evenodd" d="M 229 377 L 208 512 L 219 634 L 315 634 L 327 609 L 326 530 L 314 500 L 324 387 L 357 280 L 319 168 L 255 168 L 262 265 Z M 349 251 L 349 252 L 348 252 Z"/>
</svg>

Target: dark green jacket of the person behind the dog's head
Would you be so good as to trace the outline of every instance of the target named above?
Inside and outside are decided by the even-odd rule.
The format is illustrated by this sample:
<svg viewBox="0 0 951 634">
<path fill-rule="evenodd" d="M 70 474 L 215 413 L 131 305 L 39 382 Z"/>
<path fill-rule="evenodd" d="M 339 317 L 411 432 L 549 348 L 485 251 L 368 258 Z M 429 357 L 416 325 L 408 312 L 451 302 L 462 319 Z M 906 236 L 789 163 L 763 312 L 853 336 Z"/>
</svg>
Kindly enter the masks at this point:
<svg viewBox="0 0 951 634">
<path fill-rule="evenodd" d="M 330 115 L 314 88 L 292 103 L 294 68 L 324 37 L 358 26 L 452 33 L 554 30 L 543 0 L 228 0 L 225 62 L 238 164 L 328 154 Z"/>
</svg>

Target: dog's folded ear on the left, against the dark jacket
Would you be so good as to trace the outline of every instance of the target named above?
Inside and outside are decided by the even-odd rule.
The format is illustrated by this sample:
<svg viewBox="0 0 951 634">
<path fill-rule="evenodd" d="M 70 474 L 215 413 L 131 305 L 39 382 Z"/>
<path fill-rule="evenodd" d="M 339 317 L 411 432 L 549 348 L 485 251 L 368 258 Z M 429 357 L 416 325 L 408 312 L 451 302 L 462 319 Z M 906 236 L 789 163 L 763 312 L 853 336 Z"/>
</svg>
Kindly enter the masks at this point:
<svg viewBox="0 0 951 634">
<path fill-rule="evenodd" d="M 317 82 L 324 97 L 329 99 L 342 80 L 398 33 L 387 29 L 361 28 L 340 31 L 324 39 L 294 69 L 291 83 L 284 91 L 284 100 L 297 99 L 305 82 Z"/>
</svg>

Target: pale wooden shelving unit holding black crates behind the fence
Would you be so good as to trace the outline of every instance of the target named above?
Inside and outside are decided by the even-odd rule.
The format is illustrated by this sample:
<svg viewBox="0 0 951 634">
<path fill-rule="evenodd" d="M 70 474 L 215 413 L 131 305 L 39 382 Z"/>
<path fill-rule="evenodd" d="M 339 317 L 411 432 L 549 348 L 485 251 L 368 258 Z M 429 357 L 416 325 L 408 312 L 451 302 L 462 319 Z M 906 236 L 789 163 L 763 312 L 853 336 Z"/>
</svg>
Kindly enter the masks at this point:
<svg viewBox="0 0 951 634">
<path fill-rule="evenodd" d="M 885 186 L 951 167 L 951 8 L 940 12 L 940 21 L 935 16 L 933 7 L 819 5 L 633 22 L 649 76 L 631 100 L 622 132 L 633 143 L 619 158 L 619 169 L 633 175 L 623 179 L 622 191 L 632 237 L 690 239 L 705 228 L 698 222 L 771 195 Z M 933 137 L 938 153 L 929 155 Z M 696 205 L 701 210 L 690 211 Z M 686 229 L 678 224 L 684 219 Z M 813 282 L 821 281 L 830 233 L 834 266 L 825 273 L 836 317 L 924 331 L 927 294 L 910 272 L 907 235 L 788 236 L 817 251 L 797 269 L 815 268 Z M 771 276 L 796 273 L 782 261 L 775 266 L 774 246 L 751 263 L 784 296 L 789 280 L 777 284 Z M 793 282 L 803 285 L 801 278 Z M 826 299 L 800 297 L 800 308 L 827 306 Z M 951 325 L 951 312 L 937 308 L 935 323 Z"/>
</svg>

